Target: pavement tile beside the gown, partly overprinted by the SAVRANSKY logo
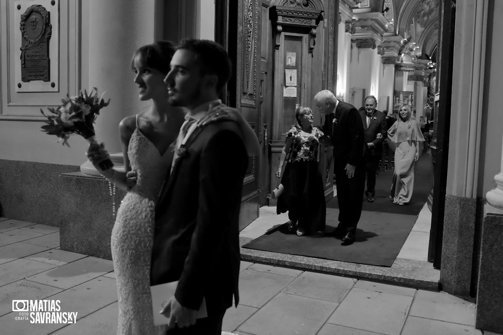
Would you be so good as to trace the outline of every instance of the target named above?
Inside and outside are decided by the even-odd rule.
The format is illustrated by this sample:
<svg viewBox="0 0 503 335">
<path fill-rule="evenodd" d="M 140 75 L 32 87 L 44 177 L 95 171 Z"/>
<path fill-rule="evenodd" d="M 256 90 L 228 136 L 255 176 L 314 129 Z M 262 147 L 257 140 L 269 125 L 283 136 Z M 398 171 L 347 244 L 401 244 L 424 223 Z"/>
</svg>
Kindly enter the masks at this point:
<svg viewBox="0 0 503 335">
<path fill-rule="evenodd" d="M 80 318 L 117 301 L 116 281 L 111 278 L 95 278 L 51 296 L 60 300 L 61 311 L 77 312 Z M 115 320 L 117 322 L 117 315 Z"/>
</svg>

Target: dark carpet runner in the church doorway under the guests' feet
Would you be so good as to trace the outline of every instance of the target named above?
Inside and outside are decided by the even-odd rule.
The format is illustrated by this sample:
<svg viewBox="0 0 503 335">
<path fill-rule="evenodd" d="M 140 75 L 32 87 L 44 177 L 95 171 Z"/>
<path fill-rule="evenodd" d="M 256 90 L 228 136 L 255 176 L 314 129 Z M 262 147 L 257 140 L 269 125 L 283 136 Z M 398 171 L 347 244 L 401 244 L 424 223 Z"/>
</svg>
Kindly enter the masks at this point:
<svg viewBox="0 0 503 335">
<path fill-rule="evenodd" d="M 345 245 L 333 236 L 339 215 L 337 198 L 333 198 L 327 202 L 324 233 L 298 237 L 289 233 L 284 224 L 243 248 L 390 267 L 430 194 L 431 156 L 423 155 L 416 162 L 414 193 L 408 205 L 399 206 L 389 200 L 392 174 L 393 171 L 388 170 L 377 176 L 375 202 L 364 201 L 356 241 L 352 245 Z"/>
</svg>

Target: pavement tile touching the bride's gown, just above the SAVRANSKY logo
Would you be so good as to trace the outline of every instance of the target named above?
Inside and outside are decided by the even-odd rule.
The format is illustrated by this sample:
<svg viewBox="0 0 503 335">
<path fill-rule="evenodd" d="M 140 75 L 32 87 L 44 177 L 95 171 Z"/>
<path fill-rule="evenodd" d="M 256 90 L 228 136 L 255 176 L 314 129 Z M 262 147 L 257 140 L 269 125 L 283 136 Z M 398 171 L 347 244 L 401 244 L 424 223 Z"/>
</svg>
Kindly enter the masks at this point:
<svg viewBox="0 0 503 335">
<path fill-rule="evenodd" d="M 103 276 L 113 269 L 112 261 L 96 257 L 86 257 L 61 265 L 56 269 L 31 276 L 28 280 L 66 289 Z"/>
</svg>

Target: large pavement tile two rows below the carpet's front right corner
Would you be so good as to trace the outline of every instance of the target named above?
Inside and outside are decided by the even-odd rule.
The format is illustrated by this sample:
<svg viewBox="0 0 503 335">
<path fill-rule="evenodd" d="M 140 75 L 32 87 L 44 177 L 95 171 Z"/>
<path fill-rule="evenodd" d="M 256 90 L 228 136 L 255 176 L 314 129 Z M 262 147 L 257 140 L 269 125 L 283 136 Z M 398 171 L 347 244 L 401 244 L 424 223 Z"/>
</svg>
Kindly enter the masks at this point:
<svg viewBox="0 0 503 335">
<path fill-rule="evenodd" d="M 351 328 L 399 334 L 412 297 L 353 288 L 327 322 Z"/>
</svg>

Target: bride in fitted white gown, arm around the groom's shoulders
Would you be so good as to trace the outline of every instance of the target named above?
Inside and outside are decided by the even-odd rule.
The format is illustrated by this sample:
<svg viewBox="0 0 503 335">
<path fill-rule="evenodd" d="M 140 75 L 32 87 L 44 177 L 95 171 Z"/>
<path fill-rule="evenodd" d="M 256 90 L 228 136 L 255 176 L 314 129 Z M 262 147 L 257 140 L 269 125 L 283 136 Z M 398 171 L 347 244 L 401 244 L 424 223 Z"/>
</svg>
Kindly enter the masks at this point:
<svg viewBox="0 0 503 335">
<path fill-rule="evenodd" d="M 117 211 L 111 238 L 119 304 L 117 333 L 121 335 L 163 334 L 166 331 L 165 326 L 153 324 L 150 263 L 155 202 L 173 158 L 171 144 L 184 122 L 184 110 L 167 103 L 167 87 L 163 82 L 174 52 L 171 42 L 160 41 L 139 48 L 133 56 L 131 67 L 139 99 L 151 100 L 151 103 L 119 124 L 125 171 L 99 169 L 99 163 L 109 157 L 103 147 L 90 148 L 87 153 L 103 176 L 128 191 Z M 224 118 L 240 124 L 248 152 L 258 154 L 258 140 L 245 121 L 239 115 Z M 208 116 L 206 120 L 218 119 L 222 116 Z M 126 176 L 132 171 L 136 183 L 128 185 L 131 179 Z"/>
</svg>

